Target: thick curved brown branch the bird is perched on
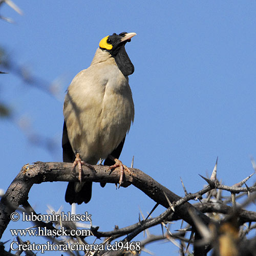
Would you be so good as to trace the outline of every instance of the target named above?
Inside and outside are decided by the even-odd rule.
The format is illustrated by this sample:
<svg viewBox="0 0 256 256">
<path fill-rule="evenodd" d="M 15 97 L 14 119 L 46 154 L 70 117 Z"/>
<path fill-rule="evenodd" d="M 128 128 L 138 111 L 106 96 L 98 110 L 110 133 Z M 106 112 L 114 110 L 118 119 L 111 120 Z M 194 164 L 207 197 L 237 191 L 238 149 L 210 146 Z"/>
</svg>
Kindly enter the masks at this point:
<svg viewBox="0 0 256 256">
<path fill-rule="evenodd" d="M 95 172 L 83 166 L 82 181 L 118 183 L 119 173 L 116 170 L 110 171 L 108 166 L 103 165 L 94 165 L 94 168 Z M 19 205 L 26 204 L 29 191 L 33 184 L 53 181 L 78 181 L 78 169 L 76 169 L 76 172 L 71 172 L 71 169 L 72 163 L 62 162 L 36 162 L 32 165 L 27 164 L 23 166 L 0 201 L 0 238 L 10 222 L 11 213 L 15 211 Z M 181 199 L 181 197 L 159 184 L 150 176 L 144 174 L 141 170 L 131 168 L 131 172 L 133 176 L 125 173 L 122 186 L 127 187 L 133 184 L 148 197 L 166 208 L 168 208 L 169 205 L 165 195 L 170 202 Z M 193 205 L 184 202 L 175 207 L 175 215 L 193 226 L 193 220 L 188 214 L 189 209 L 196 210 Z M 196 212 L 201 221 L 207 225 L 210 219 L 200 211 L 196 210 Z"/>
</svg>

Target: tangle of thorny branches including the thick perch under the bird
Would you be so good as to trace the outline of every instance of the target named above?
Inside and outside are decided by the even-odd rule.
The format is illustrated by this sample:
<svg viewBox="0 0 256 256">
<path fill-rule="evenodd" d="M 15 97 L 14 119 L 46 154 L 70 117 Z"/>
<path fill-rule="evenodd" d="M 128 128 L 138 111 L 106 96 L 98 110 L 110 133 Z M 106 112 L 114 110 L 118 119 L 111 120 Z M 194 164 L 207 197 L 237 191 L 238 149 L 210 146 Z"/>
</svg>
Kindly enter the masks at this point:
<svg viewBox="0 0 256 256">
<path fill-rule="evenodd" d="M 48 182 L 48 181 L 77 181 L 78 172 L 71 173 L 70 163 L 43 163 L 36 162 L 33 165 L 25 165 L 17 177 L 13 180 L 11 185 L 6 191 L 5 196 L 0 201 L 0 235 L 2 236 L 4 230 L 6 229 L 9 221 L 10 214 L 19 207 L 23 205 L 27 214 L 30 212 L 36 212 L 32 209 L 28 199 L 28 193 L 33 184 Z M 119 176 L 117 172 L 110 172 L 107 166 L 95 165 L 95 173 L 92 170 L 83 168 L 83 181 L 94 181 L 94 182 L 108 182 L 108 183 L 117 183 Z M 217 167 L 217 166 L 216 166 Z M 161 236 L 155 236 L 149 234 L 145 240 L 141 241 L 141 249 L 146 251 L 145 245 L 153 241 L 158 240 L 168 240 L 176 244 L 180 250 L 183 250 L 184 243 L 187 244 L 187 249 L 189 244 L 193 244 L 194 237 L 193 233 L 196 230 L 201 230 L 201 244 L 208 246 L 207 250 L 214 248 L 215 255 L 223 250 L 221 246 L 221 237 L 226 236 L 229 232 L 228 230 L 236 230 L 234 235 L 231 236 L 230 241 L 232 244 L 236 245 L 234 250 L 234 255 L 242 255 L 240 251 L 243 251 L 243 255 L 250 255 L 249 252 L 254 248 L 253 240 L 246 240 L 246 234 L 251 230 L 256 228 L 256 225 L 251 225 L 252 222 L 256 222 L 256 212 L 249 211 L 239 207 L 236 208 L 226 205 L 223 200 L 224 197 L 220 196 L 219 191 L 226 190 L 231 194 L 244 194 L 247 192 L 250 197 L 246 201 L 246 204 L 249 204 L 251 200 L 255 199 L 253 193 L 256 190 L 255 184 L 251 187 L 246 186 L 241 187 L 245 182 L 244 180 L 240 183 L 237 183 L 232 186 L 222 185 L 217 180 L 215 172 L 217 168 L 214 169 L 214 175 L 211 176 L 211 179 L 204 178 L 208 185 L 203 189 L 199 190 L 197 193 L 191 194 L 187 193 L 187 190 L 182 182 L 183 189 L 185 191 L 185 196 L 183 198 L 177 196 L 172 191 L 168 190 L 166 187 L 162 186 L 150 176 L 147 176 L 141 170 L 131 168 L 132 174 L 126 173 L 125 179 L 122 186 L 126 187 L 130 184 L 133 184 L 140 190 L 142 190 L 146 195 L 152 198 L 158 204 L 163 205 L 167 209 L 158 217 L 146 218 L 138 223 L 135 223 L 131 226 L 124 228 L 115 228 L 112 231 L 102 232 L 99 231 L 99 227 L 92 226 L 91 233 L 97 239 L 106 238 L 102 244 L 109 244 L 111 241 L 117 240 L 122 236 L 126 236 L 121 240 L 121 242 L 131 242 L 137 234 L 147 230 L 152 226 L 160 224 L 165 228 L 165 232 Z M 252 175 L 251 175 L 252 176 Z M 251 177 L 249 176 L 249 177 Z M 248 177 L 247 177 L 248 178 Z M 245 179 L 246 181 L 248 179 Z M 252 194 L 253 193 L 253 194 Z M 205 196 L 205 198 L 203 198 Z M 191 205 L 188 203 L 189 200 L 199 200 L 200 203 Z M 226 200 L 228 202 L 228 200 Z M 207 214 L 207 215 L 205 215 Z M 218 216 L 218 218 L 216 218 Z M 184 220 L 188 223 L 188 226 L 185 229 L 178 230 L 178 232 L 170 232 L 168 223 L 175 220 Z M 246 225 L 246 223 L 249 223 Z M 66 230 L 76 228 L 76 223 L 60 223 L 59 221 L 54 223 L 44 223 L 37 222 L 35 227 L 46 227 L 47 229 L 57 229 L 60 226 L 65 226 Z M 224 228 L 228 226 L 229 228 Z M 192 233 L 191 233 L 192 232 Z M 186 238 L 186 233 L 190 233 L 190 238 Z M 229 234 L 230 237 L 230 234 Z M 72 237 L 69 236 L 65 240 L 59 238 L 49 237 L 50 241 L 63 244 L 68 241 L 78 240 L 80 243 L 86 244 L 86 237 Z M 175 240 L 177 242 L 175 242 Z M 197 243 L 199 243 L 197 242 Z M 230 242 L 230 243 L 231 243 Z M 235 243 L 236 242 L 236 243 Z M 179 246 L 181 243 L 181 246 Z M 244 244 L 247 244 L 247 250 L 242 249 Z M 233 245 L 234 246 L 234 245 Z M 0 247 L 3 249 L 4 245 Z M 6 251 L 5 251 L 6 252 Z M 94 255 L 123 255 L 125 251 L 98 251 Z M 9 252 L 8 252 L 9 253 Z M 72 251 L 67 251 L 70 255 L 75 255 Z M 89 253 L 89 252 L 88 252 Z M 126 252 L 126 255 L 128 252 Z M 139 251 L 134 251 L 130 253 L 139 253 Z M 183 254 L 185 255 L 185 251 Z M 79 255 L 79 254 L 77 254 Z M 89 255 L 89 254 L 88 254 Z M 196 253 L 195 253 L 196 255 Z"/>
</svg>

